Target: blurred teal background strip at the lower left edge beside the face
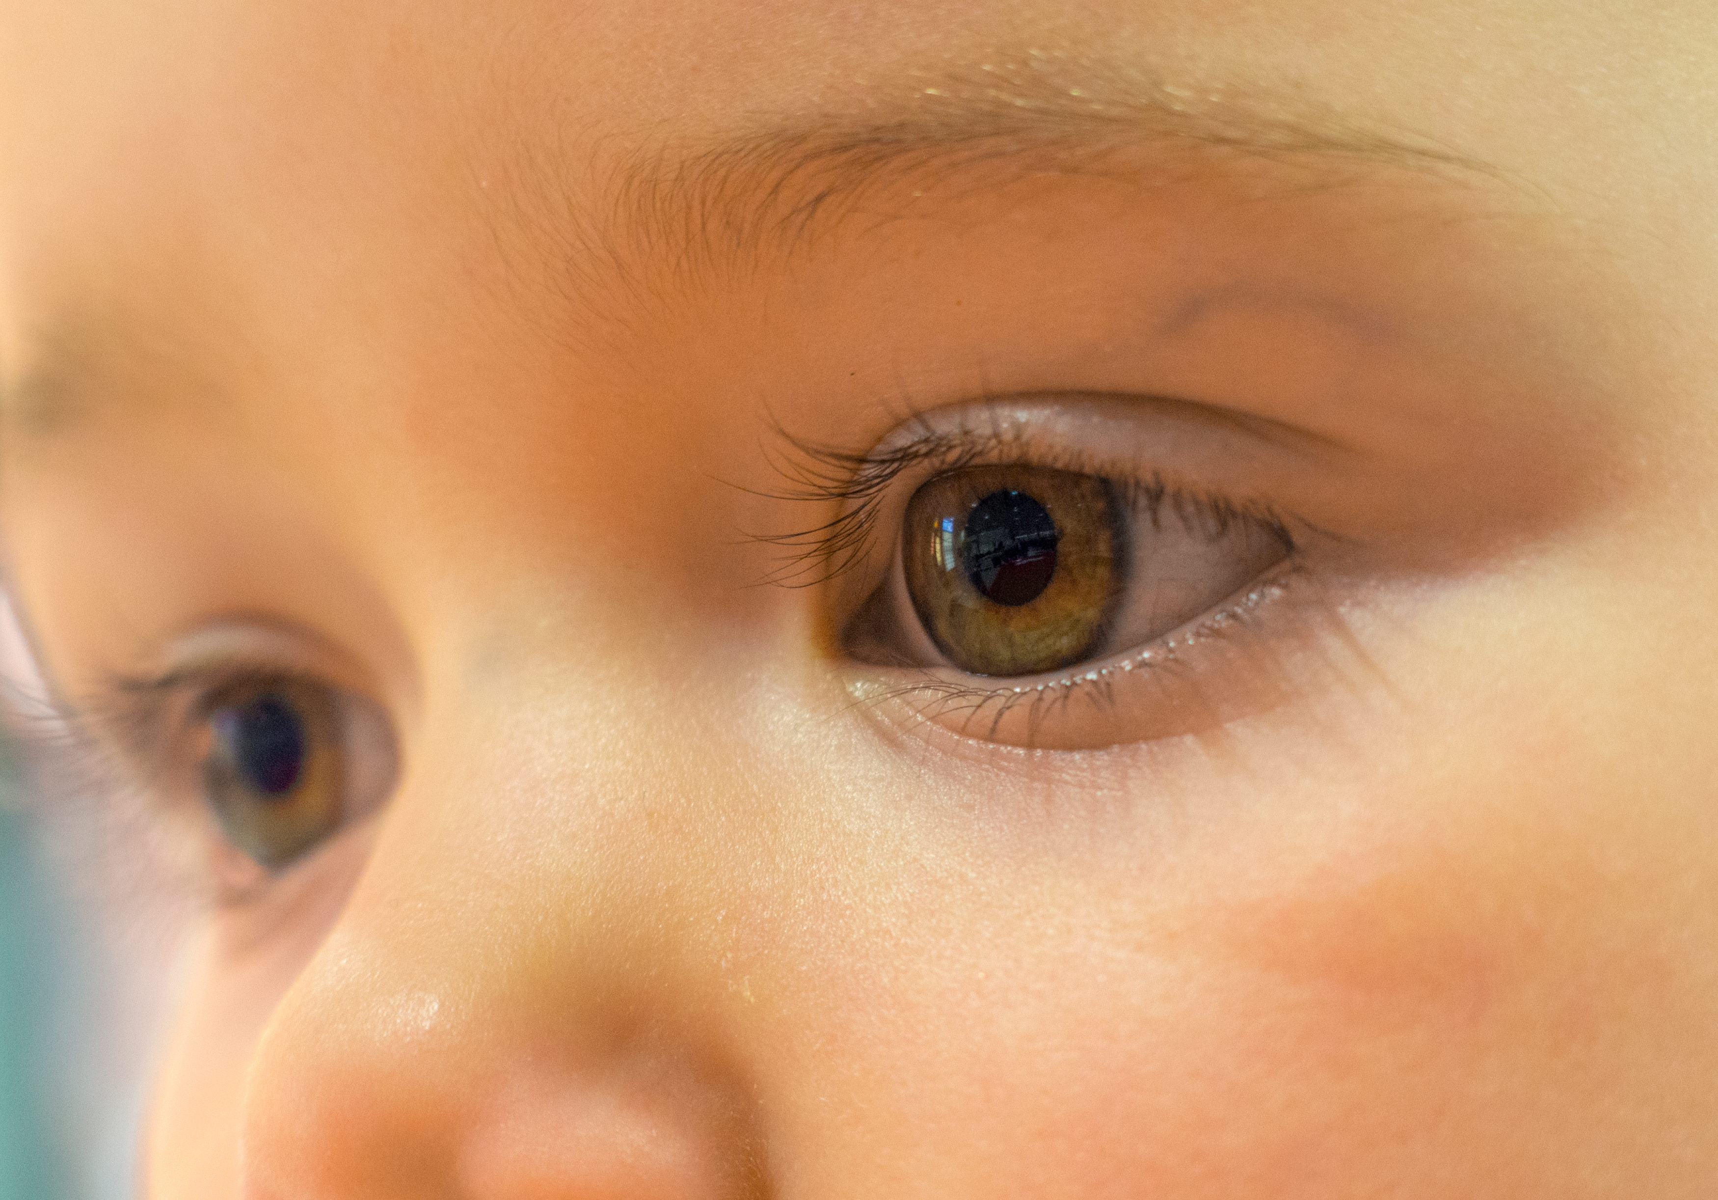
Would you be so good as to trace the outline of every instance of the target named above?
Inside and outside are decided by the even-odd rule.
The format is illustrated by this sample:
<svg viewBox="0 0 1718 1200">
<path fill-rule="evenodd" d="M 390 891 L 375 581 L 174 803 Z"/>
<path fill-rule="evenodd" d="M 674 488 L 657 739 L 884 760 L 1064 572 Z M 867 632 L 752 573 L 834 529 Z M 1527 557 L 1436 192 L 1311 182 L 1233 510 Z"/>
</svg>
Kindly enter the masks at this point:
<svg viewBox="0 0 1718 1200">
<path fill-rule="evenodd" d="M 67 1200 L 64 1131 L 48 1116 L 65 908 L 3 755 L 0 746 L 0 1200 Z"/>
</svg>

